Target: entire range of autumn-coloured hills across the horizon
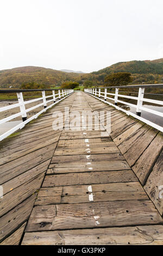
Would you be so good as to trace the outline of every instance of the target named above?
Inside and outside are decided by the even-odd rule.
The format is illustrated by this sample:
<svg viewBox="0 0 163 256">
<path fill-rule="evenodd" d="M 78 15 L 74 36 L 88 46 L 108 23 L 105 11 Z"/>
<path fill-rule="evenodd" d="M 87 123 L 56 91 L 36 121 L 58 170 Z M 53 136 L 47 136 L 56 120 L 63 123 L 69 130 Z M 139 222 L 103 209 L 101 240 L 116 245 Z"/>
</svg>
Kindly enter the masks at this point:
<svg viewBox="0 0 163 256">
<path fill-rule="evenodd" d="M 46 86 L 60 86 L 65 81 L 83 84 L 85 80 L 93 82 L 93 86 L 103 86 L 104 78 L 115 72 L 130 72 L 132 84 L 163 83 L 163 58 L 155 60 L 133 60 L 118 62 L 104 69 L 89 74 L 79 74 L 72 70 L 54 70 L 37 66 L 23 66 L 8 70 L 0 70 L 0 87 L 20 87 L 22 83 L 36 82 Z"/>
</svg>

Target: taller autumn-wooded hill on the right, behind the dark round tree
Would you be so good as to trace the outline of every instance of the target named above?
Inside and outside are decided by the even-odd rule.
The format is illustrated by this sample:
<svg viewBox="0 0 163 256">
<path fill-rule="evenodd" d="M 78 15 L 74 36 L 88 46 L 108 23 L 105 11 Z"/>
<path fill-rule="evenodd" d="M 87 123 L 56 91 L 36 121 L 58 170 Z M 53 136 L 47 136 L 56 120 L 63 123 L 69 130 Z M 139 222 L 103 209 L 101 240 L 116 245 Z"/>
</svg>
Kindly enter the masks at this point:
<svg viewBox="0 0 163 256">
<path fill-rule="evenodd" d="M 163 83 L 163 58 L 118 62 L 90 74 L 81 75 L 80 79 L 83 82 L 91 80 L 96 85 L 103 85 L 105 76 L 115 72 L 130 72 L 133 77 L 132 84 Z"/>
</svg>

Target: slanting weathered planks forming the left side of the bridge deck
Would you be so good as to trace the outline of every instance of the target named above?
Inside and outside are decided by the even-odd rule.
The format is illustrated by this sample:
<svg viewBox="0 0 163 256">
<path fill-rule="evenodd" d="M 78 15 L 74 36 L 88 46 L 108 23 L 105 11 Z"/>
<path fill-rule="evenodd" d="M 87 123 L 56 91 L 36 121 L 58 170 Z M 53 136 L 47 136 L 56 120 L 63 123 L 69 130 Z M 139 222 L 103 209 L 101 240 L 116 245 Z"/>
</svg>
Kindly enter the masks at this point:
<svg viewBox="0 0 163 256">
<path fill-rule="evenodd" d="M 67 101 L 67 106 L 71 106 L 72 101 L 73 97 Z M 1 144 L 1 245 L 17 245 L 21 241 L 37 192 L 61 134 L 61 131 L 53 130 L 52 111 L 51 109 L 45 115 L 48 120 L 45 121 L 42 116 L 32 121 L 17 136 L 4 139 Z"/>
</svg>

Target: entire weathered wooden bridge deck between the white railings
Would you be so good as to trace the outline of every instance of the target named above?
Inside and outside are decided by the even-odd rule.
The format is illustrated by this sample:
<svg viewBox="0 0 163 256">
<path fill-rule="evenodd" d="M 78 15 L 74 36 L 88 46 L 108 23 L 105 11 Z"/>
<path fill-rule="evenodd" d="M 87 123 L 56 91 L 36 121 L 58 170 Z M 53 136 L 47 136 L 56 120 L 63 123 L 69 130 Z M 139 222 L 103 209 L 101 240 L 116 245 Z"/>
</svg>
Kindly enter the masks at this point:
<svg viewBox="0 0 163 256">
<path fill-rule="evenodd" d="M 54 111 L 109 111 L 111 133 L 54 131 Z M 96 119 L 98 122 L 98 120 Z M 162 133 L 83 92 L 5 139 L 1 245 L 163 245 Z"/>
</svg>

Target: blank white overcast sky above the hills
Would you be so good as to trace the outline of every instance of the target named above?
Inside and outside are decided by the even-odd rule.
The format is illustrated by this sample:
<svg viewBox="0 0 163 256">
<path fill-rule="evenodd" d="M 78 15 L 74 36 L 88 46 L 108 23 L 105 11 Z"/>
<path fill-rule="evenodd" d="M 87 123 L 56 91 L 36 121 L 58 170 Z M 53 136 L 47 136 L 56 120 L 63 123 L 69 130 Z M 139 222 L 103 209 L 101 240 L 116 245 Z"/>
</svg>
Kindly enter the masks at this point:
<svg viewBox="0 0 163 256">
<path fill-rule="evenodd" d="M 0 70 L 163 57 L 162 0 L 0 0 Z"/>
</svg>

